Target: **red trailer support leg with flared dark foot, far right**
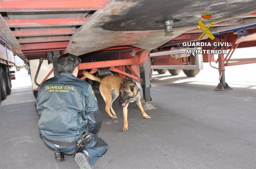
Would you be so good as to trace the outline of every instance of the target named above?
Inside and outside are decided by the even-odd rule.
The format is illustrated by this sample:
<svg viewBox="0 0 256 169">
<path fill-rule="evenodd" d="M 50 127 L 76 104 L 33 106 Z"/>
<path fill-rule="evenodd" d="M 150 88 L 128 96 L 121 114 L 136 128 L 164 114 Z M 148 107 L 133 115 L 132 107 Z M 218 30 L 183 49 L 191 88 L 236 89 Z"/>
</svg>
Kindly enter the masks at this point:
<svg viewBox="0 0 256 169">
<path fill-rule="evenodd" d="M 229 85 L 225 81 L 224 54 L 219 54 L 218 61 L 219 61 L 219 69 L 222 70 L 222 74 L 220 78 L 220 83 L 214 90 L 230 90 L 232 88 L 229 87 Z"/>
</svg>

